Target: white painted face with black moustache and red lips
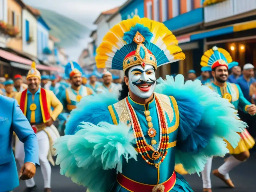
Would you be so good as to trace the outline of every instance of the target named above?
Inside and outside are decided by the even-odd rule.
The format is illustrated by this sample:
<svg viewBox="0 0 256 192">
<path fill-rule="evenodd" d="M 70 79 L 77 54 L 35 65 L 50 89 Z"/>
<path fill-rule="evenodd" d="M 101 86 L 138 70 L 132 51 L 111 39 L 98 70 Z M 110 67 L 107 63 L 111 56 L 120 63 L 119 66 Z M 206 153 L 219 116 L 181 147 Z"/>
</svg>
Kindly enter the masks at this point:
<svg viewBox="0 0 256 192">
<path fill-rule="evenodd" d="M 142 99 L 148 99 L 154 93 L 156 87 L 155 69 L 152 65 L 136 65 L 129 69 L 130 90 Z"/>
</svg>

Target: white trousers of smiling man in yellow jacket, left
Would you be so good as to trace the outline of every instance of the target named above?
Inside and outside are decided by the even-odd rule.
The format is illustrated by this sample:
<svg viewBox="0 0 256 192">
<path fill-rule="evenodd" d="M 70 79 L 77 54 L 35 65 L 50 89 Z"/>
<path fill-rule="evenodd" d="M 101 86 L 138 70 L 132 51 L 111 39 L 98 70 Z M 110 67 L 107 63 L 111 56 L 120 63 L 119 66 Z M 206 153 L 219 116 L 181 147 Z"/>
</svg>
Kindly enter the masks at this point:
<svg viewBox="0 0 256 192">
<path fill-rule="evenodd" d="M 39 144 L 39 162 L 41 171 L 44 178 L 44 187 L 51 188 L 51 165 L 47 159 L 50 149 L 50 143 L 48 135 L 44 131 L 40 131 L 36 134 Z M 16 137 L 17 138 L 17 137 Z M 24 165 L 25 151 L 24 144 L 16 139 L 15 146 L 15 158 L 18 160 L 20 166 Z M 34 178 L 26 180 L 27 187 L 34 187 L 36 185 Z"/>
</svg>

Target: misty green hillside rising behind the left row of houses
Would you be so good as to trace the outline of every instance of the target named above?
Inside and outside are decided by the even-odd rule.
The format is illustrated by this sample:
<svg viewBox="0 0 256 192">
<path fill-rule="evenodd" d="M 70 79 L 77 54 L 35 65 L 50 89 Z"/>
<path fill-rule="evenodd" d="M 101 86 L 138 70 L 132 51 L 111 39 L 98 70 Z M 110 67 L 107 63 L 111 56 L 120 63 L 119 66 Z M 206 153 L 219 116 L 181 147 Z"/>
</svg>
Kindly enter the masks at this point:
<svg viewBox="0 0 256 192">
<path fill-rule="evenodd" d="M 61 40 L 59 43 L 61 47 L 76 45 L 80 39 L 88 36 L 91 31 L 88 27 L 54 11 L 37 9 L 40 10 L 45 22 L 51 28 L 50 34 Z"/>
</svg>

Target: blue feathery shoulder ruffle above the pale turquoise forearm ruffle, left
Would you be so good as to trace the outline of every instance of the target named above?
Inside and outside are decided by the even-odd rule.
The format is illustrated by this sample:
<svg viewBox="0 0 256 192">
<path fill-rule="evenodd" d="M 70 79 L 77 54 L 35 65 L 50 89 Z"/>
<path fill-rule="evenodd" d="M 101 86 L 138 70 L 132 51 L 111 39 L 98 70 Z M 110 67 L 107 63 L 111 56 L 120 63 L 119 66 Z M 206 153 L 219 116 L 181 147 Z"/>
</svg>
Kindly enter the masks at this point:
<svg viewBox="0 0 256 192">
<path fill-rule="evenodd" d="M 90 122 L 97 125 L 99 122 L 113 123 L 108 106 L 118 102 L 117 95 L 111 93 L 90 95 L 82 98 L 77 108 L 71 111 L 66 124 L 66 135 L 73 135 L 78 131 L 80 122 Z"/>
</svg>

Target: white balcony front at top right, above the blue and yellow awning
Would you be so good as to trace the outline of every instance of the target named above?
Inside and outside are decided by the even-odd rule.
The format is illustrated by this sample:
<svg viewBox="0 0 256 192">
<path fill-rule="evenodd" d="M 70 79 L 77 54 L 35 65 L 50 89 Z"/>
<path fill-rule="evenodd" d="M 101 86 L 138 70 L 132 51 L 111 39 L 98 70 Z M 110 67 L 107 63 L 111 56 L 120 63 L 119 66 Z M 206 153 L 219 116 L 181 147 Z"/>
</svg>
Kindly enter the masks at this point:
<svg viewBox="0 0 256 192">
<path fill-rule="evenodd" d="M 204 8 L 205 23 L 214 22 L 256 9 L 256 1 L 228 0 Z"/>
</svg>

